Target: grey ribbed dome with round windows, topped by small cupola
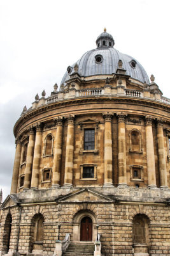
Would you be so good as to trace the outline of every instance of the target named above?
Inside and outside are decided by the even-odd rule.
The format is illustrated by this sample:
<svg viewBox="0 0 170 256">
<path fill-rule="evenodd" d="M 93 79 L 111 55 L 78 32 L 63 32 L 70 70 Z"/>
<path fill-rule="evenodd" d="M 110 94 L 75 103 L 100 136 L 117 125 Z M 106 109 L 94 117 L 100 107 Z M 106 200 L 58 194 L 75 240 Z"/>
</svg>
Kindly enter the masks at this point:
<svg viewBox="0 0 170 256">
<path fill-rule="evenodd" d="M 117 51 L 113 47 L 113 37 L 106 33 L 106 31 L 98 36 L 96 44 L 97 49 L 85 52 L 80 60 L 76 61 L 78 64 L 78 74 L 80 76 L 87 77 L 115 74 L 118 68 L 118 61 L 122 60 L 123 68 L 126 70 L 125 74 L 142 83 L 149 83 L 148 76 L 142 65 L 131 56 Z M 67 68 L 67 72 L 62 78 L 61 84 L 66 83 L 70 75 L 74 73 L 74 64 Z"/>
</svg>

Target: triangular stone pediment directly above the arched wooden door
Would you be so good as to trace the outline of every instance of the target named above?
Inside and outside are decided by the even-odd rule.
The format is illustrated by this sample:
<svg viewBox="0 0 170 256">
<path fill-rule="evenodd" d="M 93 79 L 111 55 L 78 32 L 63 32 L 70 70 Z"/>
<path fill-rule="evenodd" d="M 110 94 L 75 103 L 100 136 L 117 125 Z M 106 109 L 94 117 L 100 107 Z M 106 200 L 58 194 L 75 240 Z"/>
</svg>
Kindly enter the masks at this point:
<svg viewBox="0 0 170 256">
<path fill-rule="evenodd" d="M 70 193 L 66 196 L 62 196 L 62 198 L 57 199 L 57 202 L 82 202 L 82 203 L 92 203 L 92 202 L 114 202 L 110 197 L 103 195 L 97 191 L 93 191 L 91 189 L 81 189 Z"/>
</svg>

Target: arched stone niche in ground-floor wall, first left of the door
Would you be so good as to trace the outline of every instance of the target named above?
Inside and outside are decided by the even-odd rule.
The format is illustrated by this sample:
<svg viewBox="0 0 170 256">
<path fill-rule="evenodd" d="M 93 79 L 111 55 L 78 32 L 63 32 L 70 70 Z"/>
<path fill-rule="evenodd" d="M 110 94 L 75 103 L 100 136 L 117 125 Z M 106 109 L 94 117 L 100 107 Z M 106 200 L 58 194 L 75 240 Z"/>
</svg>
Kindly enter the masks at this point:
<svg viewBox="0 0 170 256">
<path fill-rule="evenodd" d="M 32 218 L 31 250 L 43 250 L 44 221 L 42 214 L 35 214 Z"/>
</svg>

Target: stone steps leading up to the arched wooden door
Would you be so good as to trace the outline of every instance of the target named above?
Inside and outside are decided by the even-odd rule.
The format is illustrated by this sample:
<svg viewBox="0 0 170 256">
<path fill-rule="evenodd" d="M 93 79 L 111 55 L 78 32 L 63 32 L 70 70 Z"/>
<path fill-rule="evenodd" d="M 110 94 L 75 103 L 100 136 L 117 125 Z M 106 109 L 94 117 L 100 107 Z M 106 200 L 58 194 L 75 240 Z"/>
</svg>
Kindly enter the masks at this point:
<svg viewBox="0 0 170 256">
<path fill-rule="evenodd" d="M 94 243 L 71 243 L 62 256 L 94 255 Z"/>
</svg>

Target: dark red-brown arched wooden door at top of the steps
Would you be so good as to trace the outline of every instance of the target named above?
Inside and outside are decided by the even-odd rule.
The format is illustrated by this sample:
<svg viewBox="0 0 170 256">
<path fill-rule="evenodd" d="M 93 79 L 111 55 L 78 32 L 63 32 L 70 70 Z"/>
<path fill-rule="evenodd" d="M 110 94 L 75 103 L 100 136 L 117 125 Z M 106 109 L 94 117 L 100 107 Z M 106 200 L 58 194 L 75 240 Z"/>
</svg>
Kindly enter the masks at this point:
<svg viewBox="0 0 170 256">
<path fill-rule="evenodd" d="M 92 219 L 90 217 L 84 217 L 81 220 L 80 227 L 80 241 L 92 241 Z"/>
</svg>

